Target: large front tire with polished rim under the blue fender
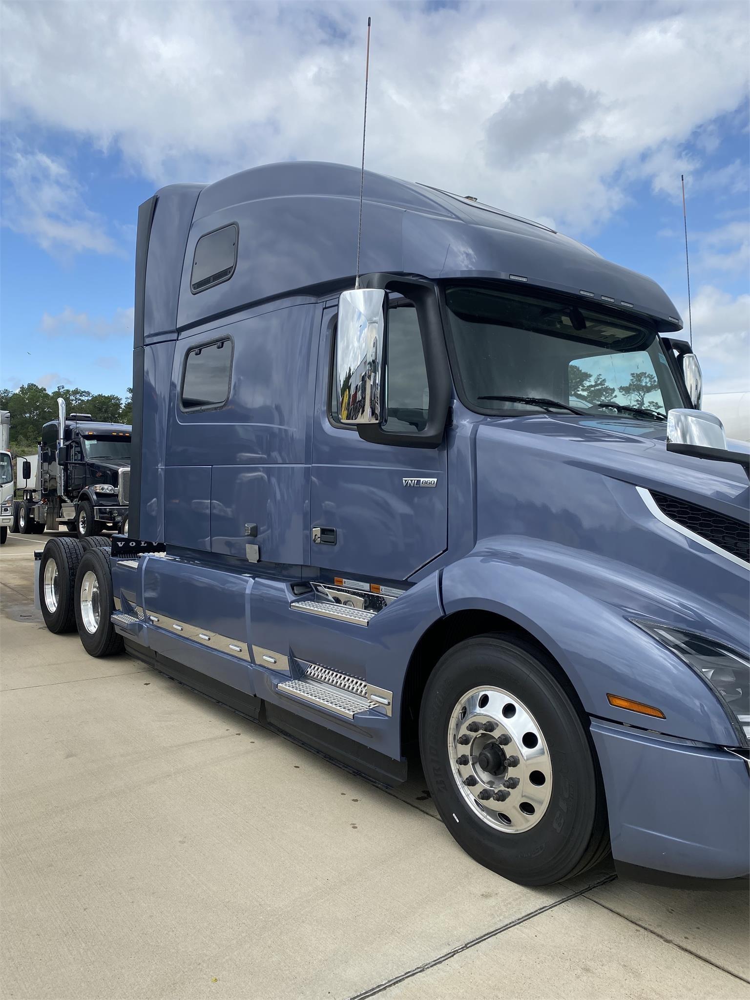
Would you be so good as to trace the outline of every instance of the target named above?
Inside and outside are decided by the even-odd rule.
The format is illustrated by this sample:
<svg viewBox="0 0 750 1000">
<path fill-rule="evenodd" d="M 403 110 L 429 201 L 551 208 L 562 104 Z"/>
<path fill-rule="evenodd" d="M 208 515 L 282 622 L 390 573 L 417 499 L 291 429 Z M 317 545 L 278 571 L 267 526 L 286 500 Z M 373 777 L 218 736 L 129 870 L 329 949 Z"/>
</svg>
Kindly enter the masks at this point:
<svg viewBox="0 0 750 1000">
<path fill-rule="evenodd" d="M 598 763 L 555 669 L 521 639 L 478 636 L 442 657 L 420 709 L 443 822 L 467 854 L 521 885 L 562 882 L 609 850 Z"/>
</svg>

